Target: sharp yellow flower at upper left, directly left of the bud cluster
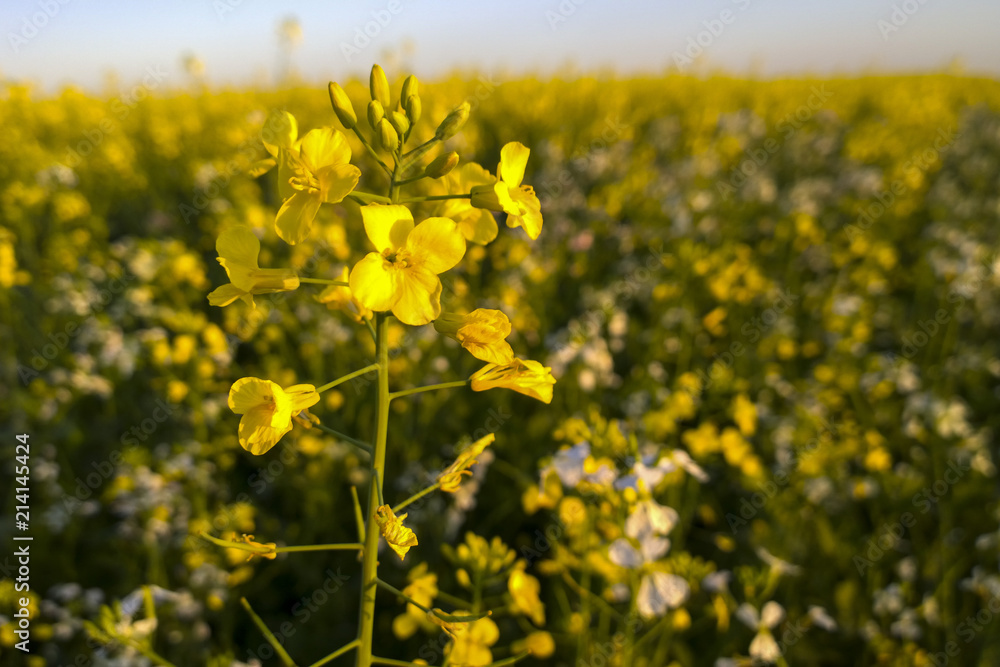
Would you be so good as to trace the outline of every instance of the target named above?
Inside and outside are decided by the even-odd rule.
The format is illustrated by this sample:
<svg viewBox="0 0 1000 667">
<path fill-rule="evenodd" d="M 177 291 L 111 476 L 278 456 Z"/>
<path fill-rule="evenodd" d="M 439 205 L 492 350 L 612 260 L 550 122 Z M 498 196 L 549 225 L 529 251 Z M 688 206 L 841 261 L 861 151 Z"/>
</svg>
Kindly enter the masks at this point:
<svg viewBox="0 0 1000 667">
<path fill-rule="evenodd" d="M 330 127 L 279 147 L 278 192 L 284 203 L 274 221 L 278 236 L 291 245 L 302 241 L 324 202 L 336 204 L 354 190 L 361 170 L 350 162 L 347 139 Z"/>
</svg>

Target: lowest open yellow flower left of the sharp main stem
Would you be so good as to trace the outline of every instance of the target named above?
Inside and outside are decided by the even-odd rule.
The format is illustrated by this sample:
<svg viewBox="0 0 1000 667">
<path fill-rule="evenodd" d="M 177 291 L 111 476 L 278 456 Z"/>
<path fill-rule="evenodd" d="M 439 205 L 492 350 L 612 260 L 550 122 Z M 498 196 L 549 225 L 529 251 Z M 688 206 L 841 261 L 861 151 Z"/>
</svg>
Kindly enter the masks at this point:
<svg viewBox="0 0 1000 667">
<path fill-rule="evenodd" d="M 251 454 L 264 454 L 278 444 L 292 430 L 292 415 L 318 402 L 311 384 L 282 389 L 269 380 L 242 378 L 229 390 L 229 408 L 243 415 L 240 445 Z"/>
</svg>

